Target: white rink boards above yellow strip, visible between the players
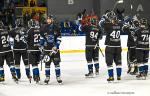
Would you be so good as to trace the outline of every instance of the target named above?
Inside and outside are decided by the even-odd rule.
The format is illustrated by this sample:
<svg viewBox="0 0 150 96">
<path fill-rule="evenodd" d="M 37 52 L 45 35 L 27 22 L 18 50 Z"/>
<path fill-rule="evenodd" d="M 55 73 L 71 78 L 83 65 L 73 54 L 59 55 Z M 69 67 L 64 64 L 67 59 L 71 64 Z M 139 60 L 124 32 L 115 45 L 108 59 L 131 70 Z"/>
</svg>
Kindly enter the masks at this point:
<svg viewBox="0 0 150 96">
<path fill-rule="evenodd" d="M 102 49 L 105 48 L 104 42 L 105 36 L 103 36 L 103 39 L 99 41 L 99 45 Z M 127 35 L 121 36 L 121 45 L 122 48 L 127 47 Z M 84 50 L 84 49 L 85 49 L 85 36 L 62 37 L 60 50 Z"/>
</svg>

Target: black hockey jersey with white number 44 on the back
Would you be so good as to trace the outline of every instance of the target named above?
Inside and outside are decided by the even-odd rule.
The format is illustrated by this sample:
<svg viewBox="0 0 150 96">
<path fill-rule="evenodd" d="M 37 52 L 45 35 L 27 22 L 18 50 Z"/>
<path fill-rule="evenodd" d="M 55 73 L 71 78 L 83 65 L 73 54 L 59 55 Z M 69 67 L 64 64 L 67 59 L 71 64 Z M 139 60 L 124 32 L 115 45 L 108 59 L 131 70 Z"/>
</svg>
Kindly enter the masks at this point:
<svg viewBox="0 0 150 96">
<path fill-rule="evenodd" d="M 14 38 L 14 50 L 26 49 L 27 45 L 24 41 L 26 38 L 26 30 L 23 27 L 17 27 L 10 31 Z"/>
</svg>

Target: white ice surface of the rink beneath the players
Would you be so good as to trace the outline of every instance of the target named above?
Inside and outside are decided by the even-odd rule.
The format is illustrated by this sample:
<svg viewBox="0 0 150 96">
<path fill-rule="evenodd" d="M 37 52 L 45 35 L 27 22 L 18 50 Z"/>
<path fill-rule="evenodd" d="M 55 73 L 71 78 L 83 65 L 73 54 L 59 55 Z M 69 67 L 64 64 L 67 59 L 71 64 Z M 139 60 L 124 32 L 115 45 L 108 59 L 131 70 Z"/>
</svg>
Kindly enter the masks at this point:
<svg viewBox="0 0 150 96">
<path fill-rule="evenodd" d="M 126 73 L 126 52 L 122 53 L 122 81 L 108 83 L 105 58 L 100 54 L 100 75 L 95 78 L 85 78 L 87 65 L 84 53 L 61 54 L 63 85 L 55 79 L 54 66 L 51 66 L 51 81 L 44 85 L 44 64 L 41 73 L 41 84 L 30 84 L 26 78 L 24 65 L 21 66 L 22 78 L 16 84 L 5 64 L 5 83 L 0 84 L 0 96 L 148 96 L 150 93 L 150 78 L 136 80 L 135 76 Z M 39 65 L 40 67 L 40 65 Z"/>
</svg>

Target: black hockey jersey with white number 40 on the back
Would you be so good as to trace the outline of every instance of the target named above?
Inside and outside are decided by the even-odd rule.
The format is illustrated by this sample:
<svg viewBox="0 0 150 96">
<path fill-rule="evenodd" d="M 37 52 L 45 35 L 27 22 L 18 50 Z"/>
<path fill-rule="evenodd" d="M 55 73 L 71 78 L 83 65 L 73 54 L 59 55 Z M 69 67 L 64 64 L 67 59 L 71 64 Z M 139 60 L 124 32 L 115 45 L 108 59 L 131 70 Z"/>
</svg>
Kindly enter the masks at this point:
<svg viewBox="0 0 150 96">
<path fill-rule="evenodd" d="M 121 46 L 120 33 L 122 32 L 122 24 L 104 23 L 104 31 L 106 32 L 105 45 Z"/>
</svg>

